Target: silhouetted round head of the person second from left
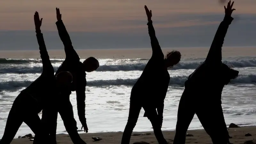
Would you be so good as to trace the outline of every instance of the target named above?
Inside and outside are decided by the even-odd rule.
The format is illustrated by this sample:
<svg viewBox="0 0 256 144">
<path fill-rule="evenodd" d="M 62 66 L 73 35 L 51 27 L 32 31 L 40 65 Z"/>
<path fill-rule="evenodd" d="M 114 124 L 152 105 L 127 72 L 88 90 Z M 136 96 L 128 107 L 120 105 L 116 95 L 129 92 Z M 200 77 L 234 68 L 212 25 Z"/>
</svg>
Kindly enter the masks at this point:
<svg viewBox="0 0 256 144">
<path fill-rule="evenodd" d="M 83 64 L 86 72 L 92 72 L 100 66 L 99 61 L 94 57 L 87 58 L 86 60 L 84 60 Z"/>
</svg>

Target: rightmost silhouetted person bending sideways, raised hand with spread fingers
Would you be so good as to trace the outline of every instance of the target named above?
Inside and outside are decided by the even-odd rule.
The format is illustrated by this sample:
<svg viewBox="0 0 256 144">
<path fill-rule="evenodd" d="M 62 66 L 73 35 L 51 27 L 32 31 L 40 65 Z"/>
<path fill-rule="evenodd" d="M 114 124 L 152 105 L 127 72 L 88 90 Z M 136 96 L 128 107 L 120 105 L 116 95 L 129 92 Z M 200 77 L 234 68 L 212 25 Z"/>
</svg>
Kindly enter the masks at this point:
<svg viewBox="0 0 256 144">
<path fill-rule="evenodd" d="M 214 36 L 206 60 L 188 77 L 180 98 L 176 134 L 173 144 L 185 144 L 188 126 L 196 114 L 213 144 L 229 142 L 227 126 L 221 107 L 223 87 L 238 76 L 238 71 L 223 64 L 221 47 L 226 36 L 234 2 L 225 6 L 225 17 Z"/>
</svg>

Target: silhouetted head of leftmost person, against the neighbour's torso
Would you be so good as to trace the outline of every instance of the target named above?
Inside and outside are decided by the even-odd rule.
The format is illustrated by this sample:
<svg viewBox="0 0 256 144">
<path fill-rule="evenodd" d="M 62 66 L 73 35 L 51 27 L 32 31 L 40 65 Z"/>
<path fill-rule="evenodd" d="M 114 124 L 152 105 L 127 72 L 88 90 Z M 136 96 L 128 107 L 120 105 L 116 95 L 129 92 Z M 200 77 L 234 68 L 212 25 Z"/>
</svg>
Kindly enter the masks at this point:
<svg viewBox="0 0 256 144">
<path fill-rule="evenodd" d="M 56 85 L 60 89 L 66 89 L 71 86 L 71 83 L 73 81 L 73 76 L 68 71 L 62 71 L 58 73 L 56 76 Z"/>
</svg>

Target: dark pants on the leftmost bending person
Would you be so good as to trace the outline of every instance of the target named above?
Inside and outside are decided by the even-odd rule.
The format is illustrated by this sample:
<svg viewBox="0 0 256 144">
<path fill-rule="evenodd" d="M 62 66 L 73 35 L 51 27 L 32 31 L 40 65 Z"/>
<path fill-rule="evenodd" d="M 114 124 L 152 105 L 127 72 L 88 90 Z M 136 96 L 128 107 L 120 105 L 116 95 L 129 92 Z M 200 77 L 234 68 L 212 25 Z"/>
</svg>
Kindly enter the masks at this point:
<svg viewBox="0 0 256 144">
<path fill-rule="evenodd" d="M 10 144 L 23 122 L 37 135 L 34 143 L 47 143 L 48 138 L 38 116 L 38 109 L 40 108 L 37 101 L 21 92 L 12 104 L 0 144 Z"/>
</svg>

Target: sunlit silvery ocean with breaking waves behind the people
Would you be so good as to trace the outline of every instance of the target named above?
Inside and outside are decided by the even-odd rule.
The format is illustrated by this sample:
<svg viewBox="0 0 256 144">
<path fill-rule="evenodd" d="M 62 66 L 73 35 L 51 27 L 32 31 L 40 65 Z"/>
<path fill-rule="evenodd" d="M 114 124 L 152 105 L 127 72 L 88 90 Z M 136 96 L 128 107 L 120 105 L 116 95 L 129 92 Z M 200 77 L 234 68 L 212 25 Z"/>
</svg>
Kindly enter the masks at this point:
<svg viewBox="0 0 256 144">
<path fill-rule="evenodd" d="M 180 96 L 184 82 L 204 58 L 184 58 L 179 64 L 170 68 L 171 80 L 164 102 L 164 122 L 162 130 L 175 130 Z M 55 69 L 63 59 L 51 59 Z M 81 60 L 83 61 L 83 60 Z M 86 118 L 89 132 L 123 131 L 128 118 L 129 98 L 133 84 L 142 73 L 148 59 L 99 59 L 100 67 L 87 73 Z M 227 124 L 255 125 L 256 116 L 256 57 L 228 57 L 223 62 L 239 70 L 239 76 L 231 80 L 222 92 L 222 108 Z M 40 59 L 0 59 L 0 138 L 4 133 L 7 116 L 19 92 L 33 82 L 42 72 Z M 49 92 L 51 95 L 51 92 Z M 157 96 L 157 95 L 156 95 Z M 205 94 L 207 97 L 207 93 Z M 81 123 L 76 109 L 76 93 L 72 92 L 70 100 L 74 109 L 78 130 Z M 30 110 L 23 113 L 29 113 Z M 152 126 L 144 110 L 134 131 L 152 131 Z M 42 114 L 39 113 L 41 116 Z M 189 129 L 202 129 L 196 115 Z M 22 124 L 16 137 L 33 133 L 26 124 Z M 57 133 L 67 133 L 58 116 Z"/>
</svg>

